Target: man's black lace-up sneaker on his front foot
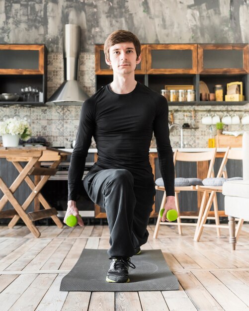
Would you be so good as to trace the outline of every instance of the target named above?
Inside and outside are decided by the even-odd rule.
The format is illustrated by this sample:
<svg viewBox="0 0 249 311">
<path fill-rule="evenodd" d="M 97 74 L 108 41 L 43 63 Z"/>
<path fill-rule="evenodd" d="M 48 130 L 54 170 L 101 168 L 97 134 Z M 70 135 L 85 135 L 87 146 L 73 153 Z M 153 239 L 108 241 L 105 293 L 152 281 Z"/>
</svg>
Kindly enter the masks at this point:
<svg viewBox="0 0 249 311">
<path fill-rule="evenodd" d="M 131 263 L 130 258 L 110 257 L 112 262 L 108 270 L 106 281 L 112 283 L 129 283 L 129 267 L 135 269 L 135 265 Z"/>
</svg>

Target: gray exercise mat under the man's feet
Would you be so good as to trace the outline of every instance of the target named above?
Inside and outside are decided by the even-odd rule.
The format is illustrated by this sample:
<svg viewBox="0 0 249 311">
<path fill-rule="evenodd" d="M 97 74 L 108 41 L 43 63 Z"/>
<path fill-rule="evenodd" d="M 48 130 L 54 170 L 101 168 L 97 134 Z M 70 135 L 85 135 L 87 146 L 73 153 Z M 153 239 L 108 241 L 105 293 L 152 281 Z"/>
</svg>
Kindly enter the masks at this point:
<svg viewBox="0 0 249 311">
<path fill-rule="evenodd" d="M 110 266 L 106 249 L 84 249 L 73 269 L 62 279 L 60 291 L 138 292 L 178 290 L 178 280 L 169 270 L 161 249 L 142 250 L 131 257 L 130 283 L 105 281 Z"/>
</svg>

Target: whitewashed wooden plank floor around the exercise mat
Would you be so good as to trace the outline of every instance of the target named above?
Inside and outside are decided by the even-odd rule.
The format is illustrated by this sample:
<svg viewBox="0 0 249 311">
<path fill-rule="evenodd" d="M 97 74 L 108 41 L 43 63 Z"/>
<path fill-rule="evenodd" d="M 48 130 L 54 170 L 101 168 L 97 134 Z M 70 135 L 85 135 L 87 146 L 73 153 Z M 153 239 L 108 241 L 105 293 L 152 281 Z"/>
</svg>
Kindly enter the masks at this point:
<svg viewBox="0 0 249 311">
<path fill-rule="evenodd" d="M 194 227 L 161 226 L 142 249 L 162 249 L 179 280 L 179 291 L 165 292 L 60 292 L 60 281 L 74 266 L 83 248 L 107 249 L 107 226 L 74 229 L 42 226 L 40 238 L 28 229 L 0 226 L 0 310 L 15 311 L 192 311 L 249 310 L 249 224 L 231 251 L 228 230 L 216 237 L 205 228 L 200 242 Z M 101 264 L 101 263 L 100 263 Z"/>
</svg>

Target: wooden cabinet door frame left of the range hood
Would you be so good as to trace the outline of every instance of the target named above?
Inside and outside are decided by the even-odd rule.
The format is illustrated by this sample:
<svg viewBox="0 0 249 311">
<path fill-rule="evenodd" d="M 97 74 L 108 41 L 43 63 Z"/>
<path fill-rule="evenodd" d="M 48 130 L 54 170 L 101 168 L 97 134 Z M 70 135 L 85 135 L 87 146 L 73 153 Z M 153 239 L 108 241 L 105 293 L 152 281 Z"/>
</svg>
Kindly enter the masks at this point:
<svg viewBox="0 0 249 311">
<path fill-rule="evenodd" d="M 38 51 L 39 69 L 0 69 L 0 75 L 44 75 L 44 53 L 43 44 L 0 44 L 0 50 Z"/>
</svg>

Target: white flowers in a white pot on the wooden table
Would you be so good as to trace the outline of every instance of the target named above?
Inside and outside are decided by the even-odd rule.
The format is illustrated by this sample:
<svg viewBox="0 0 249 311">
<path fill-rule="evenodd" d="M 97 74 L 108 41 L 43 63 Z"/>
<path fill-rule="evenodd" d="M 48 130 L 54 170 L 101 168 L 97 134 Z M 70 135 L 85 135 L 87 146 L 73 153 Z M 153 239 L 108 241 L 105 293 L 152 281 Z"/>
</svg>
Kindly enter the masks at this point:
<svg viewBox="0 0 249 311">
<path fill-rule="evenodd" d="M 26 141 L 31 137 L 31 128 L 26 120 L 9 118 L 0 122 L 0 135 L 3 147 L 17 147 L 20 138 Z"/>
</svg>

